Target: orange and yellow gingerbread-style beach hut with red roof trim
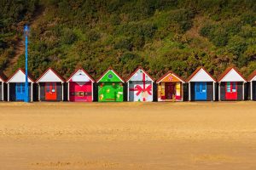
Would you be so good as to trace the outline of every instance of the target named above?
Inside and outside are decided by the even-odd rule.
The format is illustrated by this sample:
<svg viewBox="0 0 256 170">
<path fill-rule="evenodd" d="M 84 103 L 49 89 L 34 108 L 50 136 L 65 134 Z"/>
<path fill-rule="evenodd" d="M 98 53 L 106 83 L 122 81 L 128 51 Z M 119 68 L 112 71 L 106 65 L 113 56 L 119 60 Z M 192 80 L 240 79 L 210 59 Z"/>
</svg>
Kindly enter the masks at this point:
<svg viewBox="0 0 256 170">
<path fill-rule="evenodd" d="M 185 84 L 183 78 L 168 71 L 156 83 L 158 101 L 183 101 L 183 85 Z"/>
</svg>

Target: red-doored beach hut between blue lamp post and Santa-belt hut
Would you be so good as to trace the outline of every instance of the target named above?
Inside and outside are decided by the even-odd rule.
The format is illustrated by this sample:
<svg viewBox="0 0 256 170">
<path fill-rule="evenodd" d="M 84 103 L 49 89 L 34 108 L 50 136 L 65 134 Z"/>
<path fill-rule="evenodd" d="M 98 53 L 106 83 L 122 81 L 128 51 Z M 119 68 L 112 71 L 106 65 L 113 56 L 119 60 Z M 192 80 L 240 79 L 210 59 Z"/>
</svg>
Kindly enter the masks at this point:
<svg viewBox="0 0 256 170">
<path fill-rule="evenodd" d="M 38 100 L 39 101 L 63 101 L 64 100 L 64 78 L 52 68 L 47 69 L 38 78 Z"/>
</svg>

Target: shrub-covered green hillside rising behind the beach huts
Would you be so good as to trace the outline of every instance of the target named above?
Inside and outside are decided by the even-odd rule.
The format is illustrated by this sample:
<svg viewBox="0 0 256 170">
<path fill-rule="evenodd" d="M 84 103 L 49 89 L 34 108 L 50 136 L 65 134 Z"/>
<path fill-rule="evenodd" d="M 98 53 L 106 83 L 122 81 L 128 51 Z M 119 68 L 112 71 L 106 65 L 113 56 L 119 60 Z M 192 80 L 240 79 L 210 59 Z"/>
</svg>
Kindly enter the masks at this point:
<svg viewBox="0 0 256 170">
<path fill-rule="evenodd" d="M 253 0 L 1 1 L 0 70 L 8 75 L 25 65 L 25 23 L 36 77 L 49 66 L 66 77 L 77 67 L 99 77 L 110 65 L 124 77 L 142 65 L 155 78 L 168 70 L 188 77 L 200 65 L 215 77 L 230 65 L 245 76 L 256 69 Z"/>
</svg>

